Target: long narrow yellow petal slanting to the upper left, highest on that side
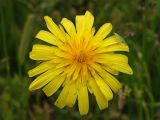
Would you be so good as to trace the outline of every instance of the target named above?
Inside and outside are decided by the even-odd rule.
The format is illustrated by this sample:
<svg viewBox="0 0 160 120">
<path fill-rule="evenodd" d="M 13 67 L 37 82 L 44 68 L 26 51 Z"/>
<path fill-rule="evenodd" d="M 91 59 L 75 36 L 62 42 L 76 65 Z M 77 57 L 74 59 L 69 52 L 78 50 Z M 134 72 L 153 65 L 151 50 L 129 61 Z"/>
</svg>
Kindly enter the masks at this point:
<svg viewBox="0 0 160 120">
<path fill-rule="evenodd" d="M 60 40 L 64 41 L 65 40 L 65 35 L 63 32 L 59 29 L 59 27 L 53 22 L 52 18 L 49 16 L 44 17 L 48 29 Z"/>
</svg>

